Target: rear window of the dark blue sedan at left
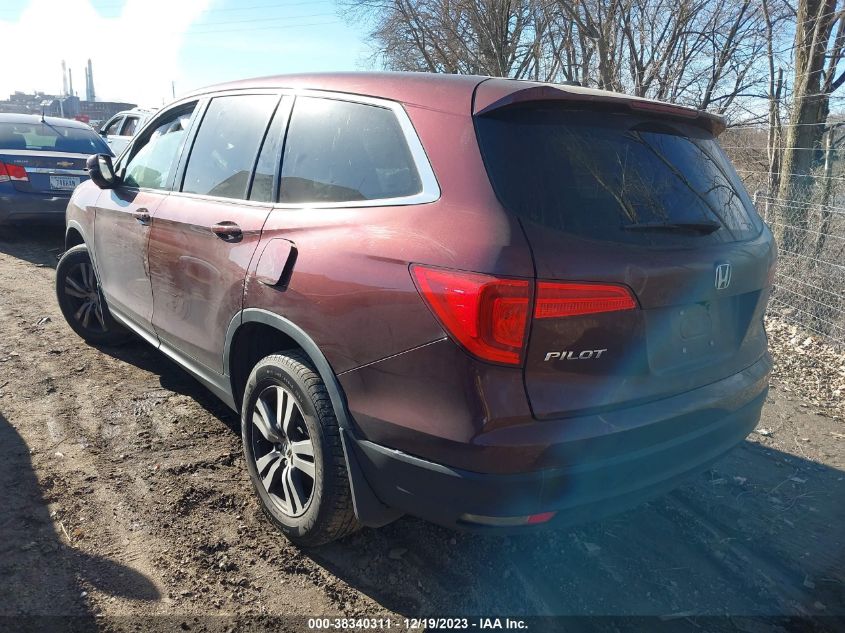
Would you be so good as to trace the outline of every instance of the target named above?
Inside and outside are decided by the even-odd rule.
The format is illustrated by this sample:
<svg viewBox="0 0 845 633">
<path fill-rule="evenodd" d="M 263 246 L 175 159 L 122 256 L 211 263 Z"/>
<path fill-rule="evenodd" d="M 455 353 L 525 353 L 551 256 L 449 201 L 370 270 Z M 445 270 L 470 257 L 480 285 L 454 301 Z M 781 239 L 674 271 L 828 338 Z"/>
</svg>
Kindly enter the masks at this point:
<svg viewBox="0 0 845 633">
<path fill-rule="evenodd" d="M 94 130 L 49 123 L 0 123 L 0 149 L 111 154 Z"/>
</svg>

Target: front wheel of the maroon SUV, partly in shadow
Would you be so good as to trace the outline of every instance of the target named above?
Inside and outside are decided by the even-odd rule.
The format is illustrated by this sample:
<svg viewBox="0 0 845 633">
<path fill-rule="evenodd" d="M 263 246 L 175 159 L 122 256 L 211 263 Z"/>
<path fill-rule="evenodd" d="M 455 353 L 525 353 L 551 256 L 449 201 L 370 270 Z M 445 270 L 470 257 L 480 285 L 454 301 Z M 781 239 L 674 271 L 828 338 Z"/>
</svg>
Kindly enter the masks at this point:
<svg viewBox="0 0 845 633">
<path fill-rule="evenodd" d="M 84 244 L 65 251 L 56 265 L 56 298 L 65 321 L 92 345 L 119 345 L 131 334 L 109 312 L 97 271 Z"/>
</svg>

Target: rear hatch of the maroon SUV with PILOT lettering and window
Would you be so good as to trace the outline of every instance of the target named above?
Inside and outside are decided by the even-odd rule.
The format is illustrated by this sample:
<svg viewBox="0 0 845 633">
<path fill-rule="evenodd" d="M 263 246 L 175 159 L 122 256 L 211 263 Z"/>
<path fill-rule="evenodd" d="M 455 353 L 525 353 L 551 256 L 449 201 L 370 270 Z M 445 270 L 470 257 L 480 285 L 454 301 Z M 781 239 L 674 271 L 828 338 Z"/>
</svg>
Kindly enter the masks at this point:
<svg viewBox="0 0 845 633">
<path fill-rule="evenodd" d="M 624 100 L 586 108 L 510 99 L 475 117 L 491 183 L 533 253 L 525 386 L 538 418 L 682 393 L 766 353 L 772 236 L 712 119 Z"/>
</svg>

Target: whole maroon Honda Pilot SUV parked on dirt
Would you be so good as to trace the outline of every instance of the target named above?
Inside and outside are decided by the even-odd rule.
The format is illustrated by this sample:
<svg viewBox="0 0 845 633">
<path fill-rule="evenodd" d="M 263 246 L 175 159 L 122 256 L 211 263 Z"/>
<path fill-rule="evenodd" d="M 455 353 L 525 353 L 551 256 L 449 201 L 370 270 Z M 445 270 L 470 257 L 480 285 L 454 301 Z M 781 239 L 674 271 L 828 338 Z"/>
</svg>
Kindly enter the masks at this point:
<svg viewBox="0 0 845 633">
<path fill-rule="evenodd" d="M 722 120 L 581 88 L 327 74 L 159 111 L 67 210 L 59 304 L 242 420 L 316 545 L 402 514 L 526 531 L 670 490 L 754 428 L 770 231 Z"/>
</svg>

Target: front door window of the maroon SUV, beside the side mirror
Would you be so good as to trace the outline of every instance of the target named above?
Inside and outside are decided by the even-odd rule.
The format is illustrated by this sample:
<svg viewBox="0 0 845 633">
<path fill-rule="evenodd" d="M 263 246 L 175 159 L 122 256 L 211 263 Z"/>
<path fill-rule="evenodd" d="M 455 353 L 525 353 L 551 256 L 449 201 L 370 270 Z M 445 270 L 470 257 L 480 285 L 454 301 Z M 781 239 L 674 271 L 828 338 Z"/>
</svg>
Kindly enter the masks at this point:
<svg viewBox="0 0 845 633">
<path fill-rule="evenodd" d="M 196 103 L 184 110 L 171 113 L 159 121 L 140 149 L 133 148 L 132 158 L 126 164 L 123 182 L 129 187 L 164 189 L 167 187 L 182 141 L 191 121 Z"/>
</svg>

